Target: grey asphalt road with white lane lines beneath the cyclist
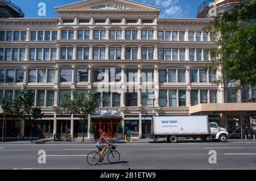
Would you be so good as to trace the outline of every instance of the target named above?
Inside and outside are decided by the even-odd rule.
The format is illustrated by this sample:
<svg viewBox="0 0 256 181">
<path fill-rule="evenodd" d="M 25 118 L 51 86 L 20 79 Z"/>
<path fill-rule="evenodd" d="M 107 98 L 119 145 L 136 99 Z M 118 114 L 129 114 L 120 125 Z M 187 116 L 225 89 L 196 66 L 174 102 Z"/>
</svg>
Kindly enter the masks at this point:
<svg viewBox="0 0 256 181">
<path fill-rule="evenodd" d="M 119 163 L 105 159 L 97 166 L 86 162 L 95 144 L 0 144 L 0 169 L 256 169 L 256 142 L 179 142 L 177 144 L 116 144 Z M 46 164 L 39 164 L 39 150 L 46 151 Z M 209 163 L 209 151 L 217 163 Z M 210 159 L 214 161 L 214 159 Z"/>
</svg>

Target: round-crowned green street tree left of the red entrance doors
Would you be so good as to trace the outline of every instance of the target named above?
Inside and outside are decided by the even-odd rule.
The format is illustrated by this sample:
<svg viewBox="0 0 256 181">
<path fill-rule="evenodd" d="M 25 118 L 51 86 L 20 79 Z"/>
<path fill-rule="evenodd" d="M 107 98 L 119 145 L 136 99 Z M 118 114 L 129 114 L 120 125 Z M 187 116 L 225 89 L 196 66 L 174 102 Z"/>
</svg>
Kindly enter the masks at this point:
<svg viewBox="0 0 256 181">
<path fill-rule="evenodd" d="M 60 103 L 65 113 L 77 115 L 82 126 L 82 141 L 84 142 L 85 126 L 88 116 L 96 110 L 100 105 L 102 98 L 96 99 L 91 91 L 73 91 L 73 99 L 71 94 L 65 94 L 64 99 Z"/>
</svg>

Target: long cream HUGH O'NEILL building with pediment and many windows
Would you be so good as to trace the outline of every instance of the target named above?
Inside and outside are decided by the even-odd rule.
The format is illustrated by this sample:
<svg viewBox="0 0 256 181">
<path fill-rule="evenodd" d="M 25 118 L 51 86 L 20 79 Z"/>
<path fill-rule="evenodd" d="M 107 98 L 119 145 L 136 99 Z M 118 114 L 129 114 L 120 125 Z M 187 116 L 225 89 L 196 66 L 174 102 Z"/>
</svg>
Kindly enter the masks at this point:
<svg viewBox="0 0 256 181">
<path fill-rule="evenodd" d="M 118 124 L 148 137 L 153 113 L 189 115 L 198 112 L 191 110 L 196 104 L 225 103 L 224 86 L 212 84 L 220 71 L 203 70 L 212 58 L 206 49 L 216 47 L 214 32 L 203 31 L 212 19 L 159 18 L 158 7 L 126 0 L 55 10 L 58 18 L 0 19 L 0 96 L 15 98 L 23 85 L 35 90 L 44 113 L 35 136 L 81 136 L 78 117 L 58 108 L 66 92 L 105 98 L 88 128 L 95 123 L 109 137 L 117 136 Z M 226 125 L 222 113 L 209 113 L 209 120 Z M 19 127 L 28 136 L 25 122 L 8 118 L 6 136 Z"/>
</svg>

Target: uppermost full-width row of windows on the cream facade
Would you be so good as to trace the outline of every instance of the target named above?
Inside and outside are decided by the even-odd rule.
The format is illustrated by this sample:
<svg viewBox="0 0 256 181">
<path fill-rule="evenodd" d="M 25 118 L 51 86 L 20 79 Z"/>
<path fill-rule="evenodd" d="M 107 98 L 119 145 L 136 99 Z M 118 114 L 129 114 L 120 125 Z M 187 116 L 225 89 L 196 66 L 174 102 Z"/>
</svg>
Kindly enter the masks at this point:
<svg viewBox="0 0 256 181">
<path fill-rule="evenodd" d="M 62 30 L 61 40 L 74 40 L 74 30 Z M 110 40 L 121 40 L 122 30 L 110 30 L 109 34 L 106 34 L 106 30 L 94 30 L 94 40 L 106 40 L 106 37 Z M 0 31 L 0 41 L 26 41 L 26 31 Z M 90 30 L 78 30 L 78 40 L 90 40 Z M 138 30 L 126 30 L 126 40 L 137 40 Z M 154 40 L 154 30 L 142 30 L 142 40 Z M 158 39 L 160 41 L 185 41 L 185 31 L 158 31 Z M 31 41 L 55 41 L 57 40 L 57 31 L 31 31 Z M 188 32 L 189 41 L 214 41 L 214 32 Z"/>
</svg>

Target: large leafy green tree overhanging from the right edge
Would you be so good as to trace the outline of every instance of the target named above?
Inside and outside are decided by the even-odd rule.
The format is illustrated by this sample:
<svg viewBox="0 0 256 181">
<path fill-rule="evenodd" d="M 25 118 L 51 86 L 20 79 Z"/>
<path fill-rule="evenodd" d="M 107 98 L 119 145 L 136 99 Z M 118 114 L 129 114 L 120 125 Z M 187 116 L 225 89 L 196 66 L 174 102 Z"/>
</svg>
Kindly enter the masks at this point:
<svg viewBox="0 0 256 181">
<path fill-rule="evenodd" d="M 208 67 L 221 68 L 225 80 L 237 82 L 240 87 L 256 83 L 256 0 L 241 3 L 232 12 L 218 15 L 204 29 L 215 31 L 218 48 L 209 49 L 217 57 Z"/>
</svg>

